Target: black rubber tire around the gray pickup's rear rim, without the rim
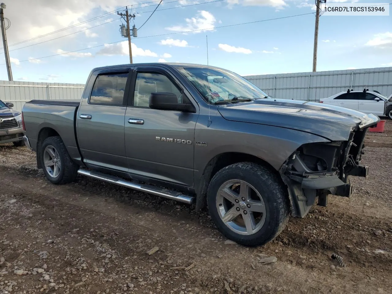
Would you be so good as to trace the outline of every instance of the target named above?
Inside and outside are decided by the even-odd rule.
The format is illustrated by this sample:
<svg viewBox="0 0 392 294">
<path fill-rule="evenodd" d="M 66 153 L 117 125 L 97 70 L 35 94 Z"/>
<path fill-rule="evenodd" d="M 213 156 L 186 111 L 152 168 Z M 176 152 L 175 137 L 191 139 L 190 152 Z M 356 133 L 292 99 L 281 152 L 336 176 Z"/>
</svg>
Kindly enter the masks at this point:
<svg viewBox="0 0 392 294">
<path fill-rule="evenodd" d="M 49 174 L 45 167 L 45 160 L 44 160 L 44 152 L 45 148 L 48 146 L 53 146 L 54 149 L 58 153 L 58 158 L 60 159 L 60 172 L 58 173 L 58 176 L 55 178 Z M 71 183 L 75 180 L 76 176 L 78 175 L 78 165 L 76 165 L 72 159 L 71 156 L 69 156 L 69 153 L 67 149 L 65 148 L 65 145 L 63 143 L 63 140 L 60 138 L 60 136 L 53 136 L 53 137 L 48 137 L 42 142 L 41 149 L 40 149 L 40 160 L 41 160 L 41 166 L 44 171 L 44 174 L 46 178 L 54 184 L 67 184 Z"/>
</svg>

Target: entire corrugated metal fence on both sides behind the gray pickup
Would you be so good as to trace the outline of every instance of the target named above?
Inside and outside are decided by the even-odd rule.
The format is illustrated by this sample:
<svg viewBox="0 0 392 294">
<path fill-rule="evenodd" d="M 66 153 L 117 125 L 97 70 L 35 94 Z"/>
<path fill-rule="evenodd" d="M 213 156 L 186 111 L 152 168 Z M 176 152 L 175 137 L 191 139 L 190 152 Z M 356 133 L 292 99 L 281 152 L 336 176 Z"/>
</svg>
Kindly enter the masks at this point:
<svg viewBox="0 0 392 294">
<path fill-rule="evenodd" d="M 392 94 L 392 67 L 321 71 L 316 73 L 244 76 L 275 98 L 318 101 L 347 89 Z M 0 81 L 0 99 L 22 110 L 33 99 L 80 99 L 84 84 Z"/>
</svg>

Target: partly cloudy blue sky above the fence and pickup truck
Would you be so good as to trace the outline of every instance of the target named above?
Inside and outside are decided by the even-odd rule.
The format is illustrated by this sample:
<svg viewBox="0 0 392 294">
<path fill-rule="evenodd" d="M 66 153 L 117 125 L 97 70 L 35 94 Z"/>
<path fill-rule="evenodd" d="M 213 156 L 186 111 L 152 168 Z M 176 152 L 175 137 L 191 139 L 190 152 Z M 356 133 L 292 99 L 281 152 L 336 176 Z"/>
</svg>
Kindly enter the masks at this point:
<svg viewBox="0 0 392 294">
<path fill-rule="evenodd" d="M 85 83 L 94 67 L 129 63 L 117 15 L 125 5 L 139 28 L 133 63 L 207 64 L 208 38 L 209 64 L 242 76 L 312 71 L 312 0 L 162 0 L 158 7 L 160 0 L 4 1 L 14 80 Z M 317 71 L 390 66 L 392 12 L 320 16 Z M 0 80 L 8 80 L 4 49 Z"/>
</svg>

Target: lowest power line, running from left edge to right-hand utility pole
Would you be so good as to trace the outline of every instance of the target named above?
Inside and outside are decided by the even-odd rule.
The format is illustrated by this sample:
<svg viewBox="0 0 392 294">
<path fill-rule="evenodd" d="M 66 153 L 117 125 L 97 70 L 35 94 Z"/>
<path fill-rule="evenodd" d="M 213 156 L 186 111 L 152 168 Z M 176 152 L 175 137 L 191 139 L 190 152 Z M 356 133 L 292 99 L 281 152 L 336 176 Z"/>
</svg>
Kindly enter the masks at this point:
<svg viewBox="0 0 392 294">
<path fill-rule="evenodd" d="M 314 14 L 314 12 L 302 13 L 302 14 L 298 14 L 298 15 L 282 16 L 282 17 L 277 17 L 277 18 L 269 18 L 269 19 L 265 19 L 265 20 L 255 20 L 253 22 L 242 22 L 242 23 L 239 23 L 239 24 L 220 25 L 218 27 L 210 27 L 210 28 L 205 28 L 205 29 L 195 29 L 195 30 L 181 31 L 181 32 L 174 32 L 174 33 L 157 34 L 157 35 L 151 35 L 151 36 L 138 37 L 138 39 L 140 39 L 140 38 L 152 38 L 152 37 L 159 37 L 159 36 L 167 36 L 167 35 L 171 35 L 171 34 L 181 34 L 181 33 L 190 33 L 190 32 L 197 32 L 197 31 L 206 31 L 206 30 L 212 30 L 212 29 L 220 29 L 220 28 L 223 28 L 223 27 L 234 27 L 236 25 L 256 24 L 256 23 L 259 23 L 259 22 L 267 22 L 267 21 L 270 21 L 270 20 L 279 20 L 279 19 L 285 19 L 285 18 L 291 18 L 291 17 L 303 16 L 303 15 L 310 15 L 310 14 Z M 66 54 L 69 54 L 69 53 L 74 53 L 74 52 L 83 51 L 83 50 L 87 50 L 87 49 L 94 49 L 94 48 L 102 47 L 102 46 L 105 46 L 105 45 L 112 45 L 112 44 L 116 44 L 116 43 L 120 43 L 120 42 L 123 42 L 123 41 L 121 40 L 121 41 L 116 41 L 116 42 L 102 44 L 102 45 L 96 45 L 94 47 L 88 47 L 88 48 L 78 49 L 78 50 L 64 52 L 64 53 L 59 53 L 59 54 L 53 54 L 53 55 L 48 55 L 48 56 L 43 56 L 43 57 L 38 57 L 38 58 L 31 58 L 31 59 L 26 59 L 26 60 L 20 60 L 19 62 L 43 59 L 43 58 L 59 56 L 59 55 L 66 55 Z M 4 64 L 0 64 L 0 65 L 4 65 Z"/>
</svg>

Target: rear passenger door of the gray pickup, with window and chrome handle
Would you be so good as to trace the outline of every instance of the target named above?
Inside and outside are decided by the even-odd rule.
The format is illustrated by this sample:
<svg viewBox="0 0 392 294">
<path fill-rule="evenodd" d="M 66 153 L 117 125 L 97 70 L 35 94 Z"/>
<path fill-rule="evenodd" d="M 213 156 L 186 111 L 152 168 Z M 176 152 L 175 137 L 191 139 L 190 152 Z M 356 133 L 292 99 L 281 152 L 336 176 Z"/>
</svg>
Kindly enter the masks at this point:
<svg viewBox="0 0 392 294">
<path fill-rule="evenodd" d="M 131 68 L 111 69 L 91 77 L 93 86 L 83 99 L 77 117 L 77 134 L 87 166 L 127 172 L 124 116 Z"/>
</svg>

